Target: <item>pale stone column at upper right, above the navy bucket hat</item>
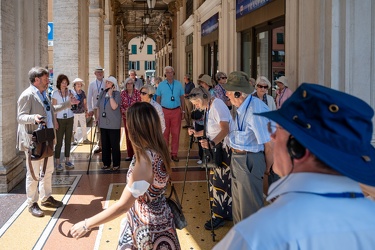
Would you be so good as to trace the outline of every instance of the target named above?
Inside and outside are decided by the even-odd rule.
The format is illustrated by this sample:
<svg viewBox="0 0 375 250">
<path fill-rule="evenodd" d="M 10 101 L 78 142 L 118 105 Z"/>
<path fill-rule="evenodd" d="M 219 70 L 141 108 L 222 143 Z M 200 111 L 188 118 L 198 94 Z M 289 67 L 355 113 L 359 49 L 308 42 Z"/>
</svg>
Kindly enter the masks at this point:
<svg viewBox="0 0 375 250">
<path fill-rule="evenodd" d="M 285 72 L 291 88 L 324 84 L 374 108 L 374 23 L 371 0 L 286 0 Z"/>
</svg>

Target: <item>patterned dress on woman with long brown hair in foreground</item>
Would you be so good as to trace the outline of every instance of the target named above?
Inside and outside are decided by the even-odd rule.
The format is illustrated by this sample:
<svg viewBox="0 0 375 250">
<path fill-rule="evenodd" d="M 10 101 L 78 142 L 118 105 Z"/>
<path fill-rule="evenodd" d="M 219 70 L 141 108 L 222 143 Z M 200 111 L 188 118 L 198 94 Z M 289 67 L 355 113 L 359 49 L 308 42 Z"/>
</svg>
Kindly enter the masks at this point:
<svg viewBox="0 0 375 250">
<path fill-rule="evenodd" d="M 165 190 L 169 175 L 160 155 L 150 151 L 154 181 L 123 219 L 118 249 L 180 249 Z M 127 178 L 133 174 L 135 157 Z"/>
</svg>

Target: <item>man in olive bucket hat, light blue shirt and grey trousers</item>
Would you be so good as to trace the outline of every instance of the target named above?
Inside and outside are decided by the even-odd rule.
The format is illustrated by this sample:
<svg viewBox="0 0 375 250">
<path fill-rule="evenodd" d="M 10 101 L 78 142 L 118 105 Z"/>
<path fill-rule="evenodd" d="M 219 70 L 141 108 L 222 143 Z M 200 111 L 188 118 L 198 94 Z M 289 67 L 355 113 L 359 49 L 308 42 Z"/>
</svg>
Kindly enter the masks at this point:
<svg viewBox="0 0 375 250">
<path fill-rule="evenodd" d="M 229 146 L 232 148 L 232 214 L 238 223 L 263 206 L 263 175 L 272 165 L 272 142 L 267 131 L 268 119 L 254 116 L 269 108 L 251 95 L 246 73 L 229 74 L 223 85 L 226 95 L 237 108 L 230 123 Z"/>
</svg>

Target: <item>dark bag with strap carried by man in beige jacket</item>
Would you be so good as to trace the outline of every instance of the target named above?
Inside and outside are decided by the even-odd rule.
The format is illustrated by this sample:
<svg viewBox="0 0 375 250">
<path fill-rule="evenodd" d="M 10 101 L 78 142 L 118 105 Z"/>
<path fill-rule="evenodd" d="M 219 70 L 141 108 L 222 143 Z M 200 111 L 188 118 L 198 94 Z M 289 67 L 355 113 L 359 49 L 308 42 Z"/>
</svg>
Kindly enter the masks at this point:
<svg viewBox="0 0 375 250">
<path fill-rule="evenodd" d="M 55 131 L 53 128 L 47 128 L 45 122 L 39 123 L 36 130 L 33 131 L 29 148 L 29 166 L 30 173 L 34 180 L 40 181 L 46 172 L 48 157 L 52 156 L 53 140 L 55 139 Z M 31 161 L 39 161 L 44 159 L 43 170 L 40 178 L 36 178 Z"/>
</svg>

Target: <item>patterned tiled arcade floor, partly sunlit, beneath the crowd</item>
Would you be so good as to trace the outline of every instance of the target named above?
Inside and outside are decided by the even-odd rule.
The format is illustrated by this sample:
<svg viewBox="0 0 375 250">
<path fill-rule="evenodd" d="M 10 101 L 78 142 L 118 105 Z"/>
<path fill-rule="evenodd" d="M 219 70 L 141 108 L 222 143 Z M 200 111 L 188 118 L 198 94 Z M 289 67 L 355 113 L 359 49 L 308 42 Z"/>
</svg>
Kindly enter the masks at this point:
<svg viewBox="0 0 375 250">
<path fill-rule="evenodd" d="M 90 139 L 91 137 L 89 137 Z M 121 218 L 92 230 L 86 237 L 75 240 L 70 237 L 72 224 L 92 216 L 113 204 L 124 188 L 129 162 L 125 161 L 126 147 L 121 140 L 121 170 L 101 170 L 100 155 L 89 158 L 90 145 L 72 148 L 71 160 L 75 169 L 54 173 L 53 195 L 62 200 L 64 207 L 54 211 L 42 208 L 46 216 L 35 218 L 24 203 L 24 183 L 9 194 L 0 195 L 0 248 L 1 249 L 115 249 Z M 188 226 L 178 230 L 182 249 L 211 249 L 232 226 L 232 222 L 215 231 L 213 242 L 210 231 L 203 225 L 209 219 L 209 204 L 205 169 L 197 165 L 197 145 L 188 155 L 188 136 L 181 130 L 180 162 L 173 168 L 172 180 L 181 198 L 185 170 L 187 183 L 183 198 L 183 211 Z M 88 171 L 88 166 L 90 168 Z"/>
</svg>

